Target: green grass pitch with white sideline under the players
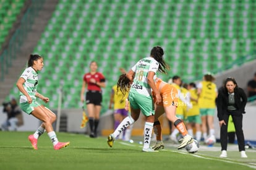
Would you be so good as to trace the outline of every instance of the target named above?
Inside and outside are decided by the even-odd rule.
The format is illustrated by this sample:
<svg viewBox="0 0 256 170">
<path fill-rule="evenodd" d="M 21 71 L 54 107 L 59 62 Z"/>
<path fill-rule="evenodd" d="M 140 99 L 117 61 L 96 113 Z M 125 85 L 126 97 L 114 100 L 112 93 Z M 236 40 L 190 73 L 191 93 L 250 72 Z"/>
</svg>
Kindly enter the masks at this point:
<svg viewBox="0 0 256 170">
<path fill-rule="evenodd" d="M 166 142 L 159 153 L 144 153 L 138 143 L 115 141 L 109 148 L 106 137 L 89 138 L 82 134 L 58 133 L 67 148 L 53 150 L 48 135 L 38 140 L 33 150 L 30 132 L 0 132 L 0 169 L 256 169 L 256 152 L 247 150 L 248 158 L 240 158 L 236 145 L 228 148 L 228 158 L 218 158 L 220 147 L 201 146 L 198 153 L 177 150 Z M 235 149 L 234 149 L 235 148 Z"/>
</svg>

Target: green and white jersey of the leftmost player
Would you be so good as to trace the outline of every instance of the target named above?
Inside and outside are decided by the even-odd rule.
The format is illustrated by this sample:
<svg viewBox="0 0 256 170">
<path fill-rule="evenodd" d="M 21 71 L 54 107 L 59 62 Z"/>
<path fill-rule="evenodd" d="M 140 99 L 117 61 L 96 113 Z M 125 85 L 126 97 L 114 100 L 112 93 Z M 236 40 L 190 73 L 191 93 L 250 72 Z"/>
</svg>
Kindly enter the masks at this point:
<svg viewBox="0 0 256 170">
<path fill-rule="evenodd" d="M 28 67 L 23 71 L 20 77 L 25 80 L 23 87 L 27 91 L 30 98 L 32 98 L 32 100 L 36 100 L 35 94 L 38 86 L 38 73 L 32 67 Z M 27 102 L 27 97 L 20 92 L 20 103 L 25 102 Z"/>
</svg>

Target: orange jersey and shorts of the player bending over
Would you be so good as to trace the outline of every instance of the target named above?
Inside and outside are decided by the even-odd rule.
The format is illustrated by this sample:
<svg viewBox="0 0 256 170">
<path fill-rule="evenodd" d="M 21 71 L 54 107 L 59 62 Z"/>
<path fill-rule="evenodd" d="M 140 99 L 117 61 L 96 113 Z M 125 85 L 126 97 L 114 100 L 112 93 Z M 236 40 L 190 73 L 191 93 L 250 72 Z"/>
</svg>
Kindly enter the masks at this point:
<svg viewBox="0 0 256 170">
<path fill-rule="evenodd" d="M 168 106 L 177 106 L 178 105 L 178 91 L 173 86 L 166 82 L 163 82 L 161 79 L 156 79 L 155 81 L 156 88 L 160 90 L 160 95 L 162 98 L 162 102 L 158 103 L 160 106 L 168 107 Z M 154 96 L 154 93 L 153 93 Z M 154 97 L 154 102 L 155 102 Z"/>
</svg>

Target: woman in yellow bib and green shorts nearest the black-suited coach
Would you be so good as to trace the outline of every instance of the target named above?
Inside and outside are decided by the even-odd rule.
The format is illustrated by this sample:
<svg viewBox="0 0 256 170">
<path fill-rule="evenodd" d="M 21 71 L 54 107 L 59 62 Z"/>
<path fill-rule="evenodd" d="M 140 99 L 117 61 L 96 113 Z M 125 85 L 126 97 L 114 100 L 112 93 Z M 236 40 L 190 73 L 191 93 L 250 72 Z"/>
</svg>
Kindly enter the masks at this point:
<svg viewBox="0 0 256 170">
<path fill-rule="evenodd" d="M 213 81 L 215 78 L 210 73 L 203 75 L 203 81 L 197 86 L 198 105 L 200 109 L 200 116 L 202 119 L 202 133 L 205 143 L 208 143 L 208 138 L 215 140 L 214 130 L 214 114 L 215 114 L 215 100 L 218 95 L 218 90 Z M 209 127 L 209 135 L 207 137 L 207 124 Z"/>
</svg>

